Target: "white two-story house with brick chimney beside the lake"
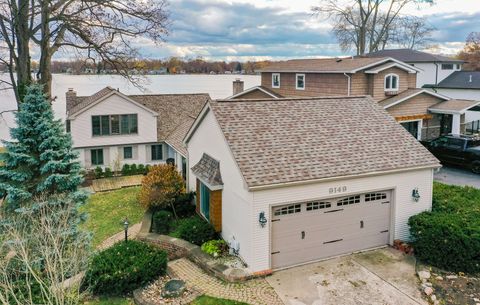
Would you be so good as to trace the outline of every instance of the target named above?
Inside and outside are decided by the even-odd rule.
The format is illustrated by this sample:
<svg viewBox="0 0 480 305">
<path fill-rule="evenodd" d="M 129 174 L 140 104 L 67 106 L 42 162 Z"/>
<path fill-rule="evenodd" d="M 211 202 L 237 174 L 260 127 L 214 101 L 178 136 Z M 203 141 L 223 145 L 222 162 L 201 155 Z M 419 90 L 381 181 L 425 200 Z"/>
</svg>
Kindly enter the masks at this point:
<svg viewBox="0 0 480 305">
<path fill-rule="evenodd" d="M 125 95 L 106 87 L 91 96 L 66 93 L 67 131 L 85 168 L 159 164 L 186 173 L 182 140 L 208 94 Z"/>
</svg>

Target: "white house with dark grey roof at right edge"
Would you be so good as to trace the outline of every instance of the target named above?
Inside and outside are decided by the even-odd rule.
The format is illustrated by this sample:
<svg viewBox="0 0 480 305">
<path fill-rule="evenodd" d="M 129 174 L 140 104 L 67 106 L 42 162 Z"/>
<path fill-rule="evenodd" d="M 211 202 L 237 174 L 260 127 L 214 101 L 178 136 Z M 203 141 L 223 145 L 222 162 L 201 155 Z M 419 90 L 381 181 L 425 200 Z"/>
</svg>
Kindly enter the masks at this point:
<svg viewBox="0 0 480 305">
<path fill-rule="evenodd" d="M 456 71 L 437 85 L 425 85 L 424 88 L 451 98 L 480 101 L 480 72 Z M 480 120 L 480 112 L 467 111 L 467 122 L 478 120 Z"/>
</svg>

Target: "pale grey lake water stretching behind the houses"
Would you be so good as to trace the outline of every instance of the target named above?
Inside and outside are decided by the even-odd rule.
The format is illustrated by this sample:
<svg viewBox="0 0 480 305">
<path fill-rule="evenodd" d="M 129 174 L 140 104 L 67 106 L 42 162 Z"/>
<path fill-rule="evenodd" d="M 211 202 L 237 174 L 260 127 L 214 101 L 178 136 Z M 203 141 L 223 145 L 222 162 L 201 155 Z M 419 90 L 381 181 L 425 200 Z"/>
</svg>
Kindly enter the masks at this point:
<svg viewBox="0 0 480 305">
<path fill-rule="evenodd" d="M 0 74 L 0 78 L 8 80 L 8 75 Z M 118 75 L 54 74 L 52 95 L 56 100 L 53 111 L 56 118 L 65 119 L 65 92 L 68 88 L 73 88 L 79 96 L 92 95 L 110 86 L 125 94 L 208 93 L 212 99 L 221 99 L 232 95 L 232 82 L 237 78 L 245 82 L 245 89 L 260 85 L 259 75 L 148 75 L 141 82 L 142 91 Z M 16 109 L 13 91 L 0 91 L 0 111 L 10 109 Z M 9 128 L 13 126 L 13 114 L 4 113 L 0 118 L 0 139 L 10 139 Z"/>
</svg>

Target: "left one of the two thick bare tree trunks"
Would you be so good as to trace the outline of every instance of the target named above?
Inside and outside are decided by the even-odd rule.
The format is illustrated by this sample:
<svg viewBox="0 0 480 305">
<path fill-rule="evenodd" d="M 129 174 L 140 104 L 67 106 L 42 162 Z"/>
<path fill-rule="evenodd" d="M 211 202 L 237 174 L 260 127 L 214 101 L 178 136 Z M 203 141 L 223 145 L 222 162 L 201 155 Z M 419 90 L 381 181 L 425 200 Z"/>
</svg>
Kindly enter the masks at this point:
<svg viewBox="0 0 480 305">
<path fill-rule="evenodd" d="M 29 0 L 18 0 L 18 14 L 17 14 L 17 102 L 21 103 L 25 96 L 26 87 L 31 84 L 32 76 L 30 71 L 30 29 L 28 27 L 30 12 Z"/>
</svg>

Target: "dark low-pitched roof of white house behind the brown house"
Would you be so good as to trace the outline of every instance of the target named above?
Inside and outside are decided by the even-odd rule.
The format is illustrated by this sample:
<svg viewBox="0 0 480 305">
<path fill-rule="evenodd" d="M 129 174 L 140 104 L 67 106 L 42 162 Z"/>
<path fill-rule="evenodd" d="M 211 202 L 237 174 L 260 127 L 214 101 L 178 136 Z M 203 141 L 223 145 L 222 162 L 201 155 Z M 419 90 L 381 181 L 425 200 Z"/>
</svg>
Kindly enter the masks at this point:
<svg viewBox="0 0 480 305">
<path fill-rule="evenodd" d="M 372 52 L 365 55 L 366 57 L 392 57 L 403 62 L 452 62 L 463 63 L 462 60 L 446 57 L 443 55 L 436 55 L 426 52 L 421 52 L 411 49 L 390 49 L 378 52 Z"/>
</svg>

